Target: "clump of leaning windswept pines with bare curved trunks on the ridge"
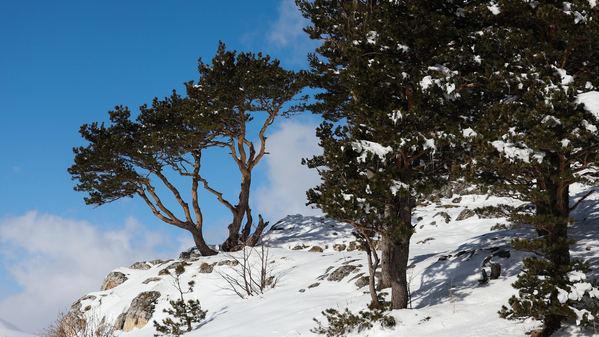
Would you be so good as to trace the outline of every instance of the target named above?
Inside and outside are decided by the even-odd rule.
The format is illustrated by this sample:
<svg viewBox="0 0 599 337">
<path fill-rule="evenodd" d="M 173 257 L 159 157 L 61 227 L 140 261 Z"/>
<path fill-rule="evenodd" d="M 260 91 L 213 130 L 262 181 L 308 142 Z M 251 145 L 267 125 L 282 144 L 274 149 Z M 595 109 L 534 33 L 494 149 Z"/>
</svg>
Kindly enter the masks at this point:
<svg viewBox="0 0 599 337">
<path fill-rule="evenodd" d="M 68 171 L 78 180 L 75 190 L 89 193 L 86 204 L 140 197 L 159 219 L 189 230 L 199 252 L 207 256 L 216 252 L 202 235 L 198 189 L 213 194 L 232 213 L 221 249 L 255 245 L 265 222 L 259 216 L 250 236 L 250 186 L 252 170 L 267 154 L 265 132 L 276 118 L 301 113 L 307 97 L 299 95 L 306 85 L 303 72 L 285 70 L 278 60 L 260 53 L 227 51 L 222 43 L 211 64 L 199 60 L 198 71 L 198 82 L 186 83 L 187 97 L 173 91 L 164 100 L 154 98 L 152 106 L 140 107 L 135 119 L 127 107 L 117 106 L 109 112 L 110 125 L 83 125 L 80 133 L 89 145 L 73 149 L 75 163 Z M 258 126 L 249 128 L 252 121 Z M 231 155 L 241 175 L 238 200 L 226 200 L 202 176 L 202 153 L 208 148 L 224 148 Z M 179 176 L 189 185 L 180 185 Z M 189 191 L 187 198 L 181 191 Z M 174 198 L 180 209 L 171 209 L 167 198 Z"/>
</svg>

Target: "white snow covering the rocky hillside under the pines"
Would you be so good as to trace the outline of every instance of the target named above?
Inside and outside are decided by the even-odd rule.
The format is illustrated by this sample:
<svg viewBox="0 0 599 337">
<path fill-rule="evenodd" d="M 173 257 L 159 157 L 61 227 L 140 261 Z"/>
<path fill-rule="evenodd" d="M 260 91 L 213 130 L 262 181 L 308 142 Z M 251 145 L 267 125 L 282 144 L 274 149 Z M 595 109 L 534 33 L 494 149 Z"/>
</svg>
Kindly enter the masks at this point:
<svg viewBox="0 0 599 337">
<path fill-rule="evenodd" d="M 588 189 L 574 187 L 571 191 L 573 200 L 585 190 Z M 441 198 L 440 203 L 418 207 L 413 216 L 417 231 L 410 245 L 411 267 L 408 269 L 412 309 L 392 311 L 398 321 L 392 330 L 375 326 L 372 330 L 351 336 L 523 336 L 535 326 L 534 322 L 514 323 L 497 315 L 501 305 L 516 293 L 510 284 L 515 281 L 524 257 L 523 253 L 512 251 L 507 243 L 513 237 L 531 236 L 533 232 L 489 229 L 502 219 L 479 219 L 474 215 L 457 220 L 464 209 L 516 201 L 476 194 L 462 195 L 461 200 L 455 200 L 457 197 L 460 196 L 455 194 Z M 574 213 L 578 221 L 571 228 L 572 236 L 579 239 L 571 248 L 572 257 L 590 260 L 595 269 L 599 268 L 598 198 L 599 195 L 592 195 L 581 204 Z M 438 212 L 449 215 L 447 222 L 444 214 Z M 274 227 L 273 230 L 270 230 L 271 227 Z M 312 318 L 320 319 L 320 311 L 349 307 L 357 312 L 370 302 L 370 295 L 365 293 L 368 287 L 358 288 L 355 284 L 359 280 L 356 276 L 362 273 L 368 275 L 365 253 L 347 251 L 347 248 L 335 251 L 334 248 L 335 245 L 349 246 L 354 240 L 351 227 L 324 216 L 292 215 L 267 229 L 264 240 L 272 247 L 269 260 L 276 261 L 278 270 L 286 273 L 276 287 L 261 296 L 240 299 L 221 290 L 226 283 L 219 278 L 217 271 L 232 268 L 227 264 L 214 265 L 214 271 L 210 273 L 199 271 L 202 263 L 211 265 L 230 260 L 222 254 L 186 260 L 190 265 L 183 274 L 184 281 L 196 282 L 195 290 L 187 294 L 186 299 L 199 299 L 202 308 L 208 310 L 205 321 L 196 324 L 186 336 L 313 336 L 309 331 L 314 327 Z M 313 246 L 319 246 L 323 251 L 309 251 Z M 171 277 L 159 275 L 159 272 L 176 261 L 181 260 L 156 264 L 147 270 L 116 269 L 116 272 L 126 275 L 127 281 L 109 290 L 89 293 L 95 299 L 83 300 L 81 310 L 92 308 L 90 312 L 98 312 L 114 320 L 139 293 L 159 291 L 161 296 L 152 320 L 161 321 L 166 317 L 162 309 L 168 308 L 168 299 L 177 296 L 177 290 L 171 284 Z M 483 266 L 490 272 L 489 262 L 501 264 L 501 276 L 479 285 Z M 341 266 L 355 266 L 355 269 L 340 281 L 328 281 L 330 275 L 321 277 Z M 588 276 L 597 277 L 595 274 Z M 149 278 L 159 280 L 144 284 Z M 316 286 L 309 287 L 316 283 Z M 1 329 L 0 326 L 0 332 L 3 332 Z M 141 329 L 136 328 L 120 336 L 150 337 L 154 333 L 150 320 Z M 17 333 L 5 335 L 22 337 Z M 4 337 L 2 333 L 0 336 Z M 580 332 L 579 327 L 568 322 L 564 331 L 556 336 L 594 336 L 594 332 Z"/>
</svg>

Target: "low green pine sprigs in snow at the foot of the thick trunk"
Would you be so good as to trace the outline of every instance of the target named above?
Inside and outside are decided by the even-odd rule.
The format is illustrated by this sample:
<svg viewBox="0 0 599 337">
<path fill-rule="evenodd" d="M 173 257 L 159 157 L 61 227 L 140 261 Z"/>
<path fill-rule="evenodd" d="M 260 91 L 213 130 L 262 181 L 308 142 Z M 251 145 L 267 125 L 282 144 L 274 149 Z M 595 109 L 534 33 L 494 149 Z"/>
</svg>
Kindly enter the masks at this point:
<svg viewBox="0 0 599 337">
<path fill-rule="evenodd" d="M 373 327 L 373 323 L 379 323 L 383 327 L 395 326 L 395 318 L 386 314 L 392 309 L 391 303 L 385 302 L 383 299 L 386 295 L 387 293 L 380 293 L 377 296 L 379 297 L 378 303 L 370 302 L 368 310 L 359 311 L 358 315 L 353 314 L 349 308 L 345 308 L 341 312 L 334 308 L 326 309 L 321 313 L 325 316 L 328 324 L 325 326 L 317 318 L 313 318 L 317 326 L 310 329 L 310 332 L 326 337 L 338 337 L 345 336 L 350 332 L 369 330 Z"/>
</svg>

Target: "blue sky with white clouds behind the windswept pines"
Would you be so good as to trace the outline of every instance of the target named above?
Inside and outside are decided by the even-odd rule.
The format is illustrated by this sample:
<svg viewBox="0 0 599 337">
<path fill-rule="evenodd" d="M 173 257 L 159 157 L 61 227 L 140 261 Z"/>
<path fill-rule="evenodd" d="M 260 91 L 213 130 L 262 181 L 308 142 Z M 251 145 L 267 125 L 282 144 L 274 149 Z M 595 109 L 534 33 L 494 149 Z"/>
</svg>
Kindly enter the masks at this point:
<svg viewBox="0 0 599 337">
<path fill-rule="evenodd" d="M 316 44 L 301 32 L 307 22 L 290 0 L 13 1 L 2 7 L 0 318 L 31 331 L 96 290 L 111 269 L 135 258 L 172 257 L 192 243 L 139 200 L 97 209 L 83 203 L 66 172 L 71 148 L 83 145 L 80 125 L 106 121 L 116 104 L 137 110 L 173 88 L 183 93 L 182 83 L 197 79 L 198 57 L 209 60 L 219 40 L 228 49 L 268 53 L 295 70 L 307 67 L 305 54 Z M 256 213 L 276 222 L 317 212 L 303 205 L 317 176 L 299 160 L 318 151 L 318 123 L 308 113 L 274 125 L 271 155 L 253 179 Z M 204 165 L 210 181 L 232 196 L 238 180 L 231 164 L 213 154 Z M 219 243 L 229 215 L 211 195 L 203 200 L 206 236 Z M 87 265 L 95 267 L 85 272 Z M 69 275 L 73 286 L 56 290 Z M 23 308 L 14 308 L 17 301 Z M 34 323 L 24 323 L 25 310 L 34 311 Z"/>
</svg>

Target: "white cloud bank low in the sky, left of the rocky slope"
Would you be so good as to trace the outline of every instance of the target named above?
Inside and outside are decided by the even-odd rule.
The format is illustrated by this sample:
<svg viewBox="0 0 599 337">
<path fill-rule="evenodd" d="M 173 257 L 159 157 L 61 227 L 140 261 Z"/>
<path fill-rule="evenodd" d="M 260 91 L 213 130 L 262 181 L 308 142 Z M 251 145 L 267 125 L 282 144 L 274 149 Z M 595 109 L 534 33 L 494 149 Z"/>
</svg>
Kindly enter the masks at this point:
<svg viewBox="0 0 599 337">
<path fill-rule="evenodd" d="M 180 246 L 189 246 L 186 239 L 165 239 L 134 218 L 116 230 L 37 212 L 1 219 L 0 255 L 22 291 L 0 300 L 0 317 L 34 332 L 59 309 L 99 290 L 111 270 L 177 254 Z M 159 253 L 164 246 L 169 252 Z"/>
</svg>

